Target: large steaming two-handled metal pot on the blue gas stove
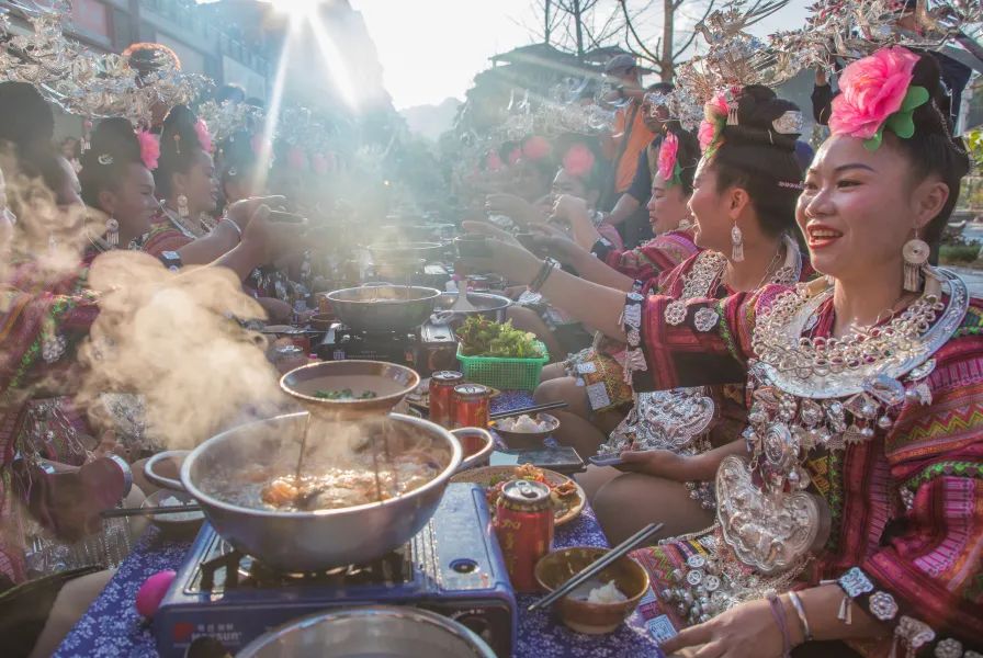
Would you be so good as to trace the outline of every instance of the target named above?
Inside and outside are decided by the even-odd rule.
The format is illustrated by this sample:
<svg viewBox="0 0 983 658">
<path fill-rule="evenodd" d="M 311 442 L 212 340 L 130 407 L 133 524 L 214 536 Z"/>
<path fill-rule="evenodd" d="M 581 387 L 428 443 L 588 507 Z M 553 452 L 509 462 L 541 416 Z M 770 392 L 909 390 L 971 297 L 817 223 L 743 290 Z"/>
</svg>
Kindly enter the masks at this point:
<svg viewBox="0 0 983 658">
<path fill-rule="evenodd" d="M 251 509 L 210 494 L 214 483 L 228 481 L 257 464 L 295 463 L 307 421 L 307 413 L 291 413 L 228 430 L 197 446 L 181 466 L 181 484 L 216 532 L 274 569 L 306 572 L 363 564 L 402 546 L 430 520 L 461 465 L 461 443 L 453 434 L 432 422 L 393 413 L 376 422 L 429 436 L 436 451 L 449 455 L 440 474 L 416 490 L 382 502 L 314 512 Z M 317 435 L 308 442 L 312 439 L 338 440 Z"/>
</svg>

